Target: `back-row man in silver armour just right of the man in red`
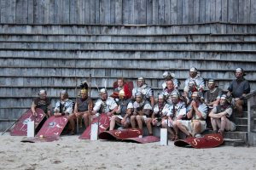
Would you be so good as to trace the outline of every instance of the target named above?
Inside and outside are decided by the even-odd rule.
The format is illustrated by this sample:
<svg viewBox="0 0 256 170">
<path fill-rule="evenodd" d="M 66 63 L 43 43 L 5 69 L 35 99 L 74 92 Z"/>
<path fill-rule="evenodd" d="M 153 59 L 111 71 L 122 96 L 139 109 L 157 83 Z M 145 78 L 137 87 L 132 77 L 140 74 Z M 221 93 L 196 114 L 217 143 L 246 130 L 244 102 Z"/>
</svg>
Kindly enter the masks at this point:
<svg viewBox="0 0 256 170">
<path fill-rule="evenodd" d="M 137 79 L 137 88 L 132 89 L 132 99 L 135 99 L 135 94 L 137 94 L 137 92 L 141 92 L 143 94 L 143 99 L 150 102 L 151 108 L 154 107 L 154 91 L 145 83 L 145 79 L 143 77 L 139 77 Z"/>
</svg>

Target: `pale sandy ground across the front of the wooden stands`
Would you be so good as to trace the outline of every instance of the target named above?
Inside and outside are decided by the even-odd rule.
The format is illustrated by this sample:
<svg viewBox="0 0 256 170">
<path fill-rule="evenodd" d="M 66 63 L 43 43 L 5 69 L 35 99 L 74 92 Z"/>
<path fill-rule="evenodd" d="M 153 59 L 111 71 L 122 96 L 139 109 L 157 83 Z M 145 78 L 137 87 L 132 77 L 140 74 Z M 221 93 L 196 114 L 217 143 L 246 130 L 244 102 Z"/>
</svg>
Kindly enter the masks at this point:
<svg viewBox="0 0 256 170">
<path fill-rule="evenodd" d="M 0 137 L 0 169 L 256 169 L 256 147 L 179 148 L 62 136 L 45 143 Z"/>
</svg>

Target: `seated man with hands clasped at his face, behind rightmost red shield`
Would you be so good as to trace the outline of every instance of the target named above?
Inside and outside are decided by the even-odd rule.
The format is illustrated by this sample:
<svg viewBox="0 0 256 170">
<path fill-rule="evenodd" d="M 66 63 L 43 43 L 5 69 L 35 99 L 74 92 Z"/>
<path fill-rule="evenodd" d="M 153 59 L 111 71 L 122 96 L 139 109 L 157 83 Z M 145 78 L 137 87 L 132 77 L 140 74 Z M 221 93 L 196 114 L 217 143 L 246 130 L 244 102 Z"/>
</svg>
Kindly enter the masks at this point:
<svg viewBox="0 0 256 170">
<path fill-rule="evenodd" d="M 187 117 L 190 120 L 177 120 L 177 127 L 187 135 L 187 137 L 201 137 L 201 133 L 207 127 L 206 118 L 208 107 L 201 102 L 201 96 L 198 92 L 192 94 L 192 102 L 187 111 Z"/>
</svg>

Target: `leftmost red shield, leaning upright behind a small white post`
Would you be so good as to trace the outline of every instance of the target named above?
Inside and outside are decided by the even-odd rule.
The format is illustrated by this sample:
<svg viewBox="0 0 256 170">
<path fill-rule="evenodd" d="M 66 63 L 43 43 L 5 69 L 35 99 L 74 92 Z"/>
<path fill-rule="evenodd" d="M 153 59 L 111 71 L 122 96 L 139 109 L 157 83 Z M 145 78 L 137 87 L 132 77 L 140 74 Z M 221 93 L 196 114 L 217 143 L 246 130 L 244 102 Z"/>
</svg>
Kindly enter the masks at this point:
<svg viewBox="0 0 256 170">
<path fill-rule="evenodd" d="M 27 122 L 28 121 L 34 121 L 35 122 L 35 129 L 38 127 L 40 122 L 43 121 L 45 113 L 43 110 L 37 108 L 36 109 L 38 116 L 33 116 L 32 111 L 28 110 L 26 111 L 15 124 L 15 127 L 10 132 L 10 135 L 12 136 L 26 136 L 27 131 Z"/>
</svg>

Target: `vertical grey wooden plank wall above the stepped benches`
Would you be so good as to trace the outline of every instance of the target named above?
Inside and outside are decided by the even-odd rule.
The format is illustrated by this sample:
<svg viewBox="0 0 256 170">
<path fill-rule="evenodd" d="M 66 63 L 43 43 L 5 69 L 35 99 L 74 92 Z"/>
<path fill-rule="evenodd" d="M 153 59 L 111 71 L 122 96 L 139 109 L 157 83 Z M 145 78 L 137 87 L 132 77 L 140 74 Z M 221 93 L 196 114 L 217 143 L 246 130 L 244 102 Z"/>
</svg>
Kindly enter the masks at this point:
<svg viewBox="0 0 256 170">
<path fill-rule="evenodd" d="M 4 24 L 256 23 L 256 0 L 1 0 Z"/>
</svg>

